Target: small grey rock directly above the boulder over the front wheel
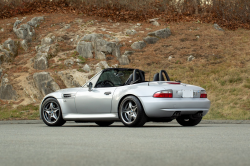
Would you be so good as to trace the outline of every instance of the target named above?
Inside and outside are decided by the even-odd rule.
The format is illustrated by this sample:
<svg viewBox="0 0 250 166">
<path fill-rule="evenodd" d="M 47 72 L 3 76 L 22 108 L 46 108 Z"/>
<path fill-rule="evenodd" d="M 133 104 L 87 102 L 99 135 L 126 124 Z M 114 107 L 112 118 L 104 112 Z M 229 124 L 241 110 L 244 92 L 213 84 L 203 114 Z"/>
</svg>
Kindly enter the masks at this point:
<svg viewBox="0 0 250 166">
<path fill-rule="evenodd" d="M 34 69 L 45 70 L 49 67 L 48 59 L 44 53 L 37 53 L 34 59 Z"/>
</svg>

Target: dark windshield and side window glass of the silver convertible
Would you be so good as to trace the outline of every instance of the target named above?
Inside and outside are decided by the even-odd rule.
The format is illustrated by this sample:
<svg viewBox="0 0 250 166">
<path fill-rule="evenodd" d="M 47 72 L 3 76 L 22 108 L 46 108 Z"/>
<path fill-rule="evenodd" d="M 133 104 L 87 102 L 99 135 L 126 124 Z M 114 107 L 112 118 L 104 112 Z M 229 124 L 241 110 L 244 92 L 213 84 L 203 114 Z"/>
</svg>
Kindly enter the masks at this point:
<svg viewBox="0 0 250 166">
<path fill-rule="evenodd" d="M 104 71 L 97 81 L 96 87 L 108 87 L 108 85 L 123 86 L 131 74 L 133 74 L 132 69 Z"/>
</svg>

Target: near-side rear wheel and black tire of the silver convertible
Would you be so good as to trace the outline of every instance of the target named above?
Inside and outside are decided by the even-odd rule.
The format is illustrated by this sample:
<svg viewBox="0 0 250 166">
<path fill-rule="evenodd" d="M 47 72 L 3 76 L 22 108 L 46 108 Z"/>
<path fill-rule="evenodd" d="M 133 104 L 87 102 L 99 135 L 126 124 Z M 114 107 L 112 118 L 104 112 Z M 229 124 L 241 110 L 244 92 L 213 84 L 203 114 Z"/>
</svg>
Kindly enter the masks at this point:
<svg viewBox="0 0 250 166">
<path fill-rule="evenodd" d="M 122 100 L 118 115 L 127 127 L 141 127 L 148 121 L 140 101 L 135 96 L 127 96 Z"/>
</svg>

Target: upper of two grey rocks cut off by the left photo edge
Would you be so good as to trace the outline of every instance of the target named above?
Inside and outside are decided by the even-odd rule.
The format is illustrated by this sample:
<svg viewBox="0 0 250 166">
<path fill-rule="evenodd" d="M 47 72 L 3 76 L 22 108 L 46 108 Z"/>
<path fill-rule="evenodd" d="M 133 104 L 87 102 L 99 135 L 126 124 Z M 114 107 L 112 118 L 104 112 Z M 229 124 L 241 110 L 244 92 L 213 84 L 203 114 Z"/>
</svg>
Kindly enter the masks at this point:
<svg viewBox="0 0 250 166">
<path fill-rule="evenodd" d="M 11 62 L 18 55 L 18 44 L 11 38 L 0 45 L 0 55 L 2 62 Z"/>
</svg>

